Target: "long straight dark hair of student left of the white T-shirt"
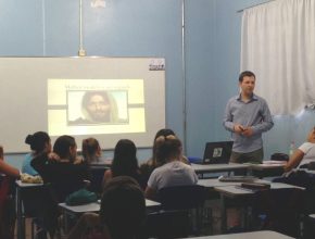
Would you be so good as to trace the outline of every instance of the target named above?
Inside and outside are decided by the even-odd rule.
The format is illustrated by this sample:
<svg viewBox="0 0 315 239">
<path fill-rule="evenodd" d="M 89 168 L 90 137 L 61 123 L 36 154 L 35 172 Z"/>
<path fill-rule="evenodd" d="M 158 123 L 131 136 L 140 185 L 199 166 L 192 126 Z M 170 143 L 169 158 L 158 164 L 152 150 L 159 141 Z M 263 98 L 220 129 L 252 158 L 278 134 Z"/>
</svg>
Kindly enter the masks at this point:
<svg viewBox="0 0 315 239">
<path fill-rule="evenodd" d="M 135 177 L 138 173 L 137 148 L 129 139 L 121 139 L 114 150 L 112 163 L 113 177 L 130 176 Z"/>
</svg>

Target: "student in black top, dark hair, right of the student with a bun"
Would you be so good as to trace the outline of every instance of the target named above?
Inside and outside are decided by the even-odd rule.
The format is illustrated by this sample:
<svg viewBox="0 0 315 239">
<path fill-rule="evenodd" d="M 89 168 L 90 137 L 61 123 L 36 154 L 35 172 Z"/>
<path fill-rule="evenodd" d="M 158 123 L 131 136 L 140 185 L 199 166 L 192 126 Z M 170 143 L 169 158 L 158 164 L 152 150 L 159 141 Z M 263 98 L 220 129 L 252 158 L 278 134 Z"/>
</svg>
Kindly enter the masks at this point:
<svg viewBox="0 0 315 239">
<path fill-rule="evenodd" d="M 90 178 L 87 164 L 77 158 L 77 146 L 72 136 L 60 136 L 52 153 L 43 152 L 30 164 L 45 184 L 51 184 L 58 202 L 63 202 L 66 196 L 83 188 L 84 180 Z"/>
</svg>

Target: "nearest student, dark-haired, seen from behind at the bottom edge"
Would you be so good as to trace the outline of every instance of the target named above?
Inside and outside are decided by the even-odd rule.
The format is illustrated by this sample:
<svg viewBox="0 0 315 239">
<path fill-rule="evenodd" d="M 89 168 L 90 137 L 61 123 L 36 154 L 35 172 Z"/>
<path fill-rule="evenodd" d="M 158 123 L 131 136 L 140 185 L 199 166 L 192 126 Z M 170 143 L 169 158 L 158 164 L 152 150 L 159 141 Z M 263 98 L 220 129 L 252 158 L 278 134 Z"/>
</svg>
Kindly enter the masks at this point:
<svg viewBox="0 0 315 239">
<path fill-rule="evenodd" d="M 68 239 L 135 239 L 144 218 L 146 200 L 138 183 L 128 176 L 117 176 L 104 187 L 100 214 L 84 214 Z"/>
</svg>

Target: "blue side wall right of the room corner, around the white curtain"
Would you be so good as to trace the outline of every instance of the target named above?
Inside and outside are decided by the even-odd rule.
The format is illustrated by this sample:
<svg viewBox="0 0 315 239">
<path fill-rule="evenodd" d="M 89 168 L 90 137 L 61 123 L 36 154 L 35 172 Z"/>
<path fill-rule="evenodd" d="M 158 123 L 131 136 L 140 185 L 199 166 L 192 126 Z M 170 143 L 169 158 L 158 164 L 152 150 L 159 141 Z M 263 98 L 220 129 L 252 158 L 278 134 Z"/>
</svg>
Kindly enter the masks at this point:
<svg viewBox="0 0 315 239">
<path fill-rule="evenodd" d="M 241 13 L 237 11 L 267 2 L 267 0 L 217 0 L 216 1 L 216 81 L 218 88 L 216 102 L 216 116 L 223 115 L 227 99 L 238 92 L 238 73 L 240 66 L 240 28 Z M 257 80 L 264 80 L 259 79 Z M 276 79 L 275 79 L 276 80 Z M 262 96 L 263 97 L 263 96 Z M 293 98 L 294 96 L 292 96 Z M 220 121 L 213 121 L 214 139 L 219 139 L 228 134 L 222 127 L 214 127 Z M 289 153 L 290 141 L 299 147 L 305 141 L 306 135 L 315 125 L 315 113 L 308 111 L 295 116 L 275 116 L 275 126 L 264 134 L 265 159 L 275 152 Z"/>
</svg>

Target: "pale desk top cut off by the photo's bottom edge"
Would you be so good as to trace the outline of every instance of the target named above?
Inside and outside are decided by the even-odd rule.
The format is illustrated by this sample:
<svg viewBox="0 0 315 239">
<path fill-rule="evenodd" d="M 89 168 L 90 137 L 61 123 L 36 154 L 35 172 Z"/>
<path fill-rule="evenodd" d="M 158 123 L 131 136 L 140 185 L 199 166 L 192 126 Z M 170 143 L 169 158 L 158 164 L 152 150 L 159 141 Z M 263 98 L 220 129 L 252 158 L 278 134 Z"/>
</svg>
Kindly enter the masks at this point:
<svg viewBox="0 0 315 239">
<path fill-rule="evenodd" d="M 272 231 L 272 230 L 261 230 L 243 234 L 228 234 L 218 236 L 207 236 L 207 237 L 191 237 L 190 239 L 292 239 L 292 237 Z"/>
</svg>

